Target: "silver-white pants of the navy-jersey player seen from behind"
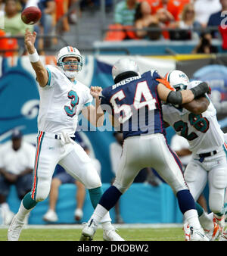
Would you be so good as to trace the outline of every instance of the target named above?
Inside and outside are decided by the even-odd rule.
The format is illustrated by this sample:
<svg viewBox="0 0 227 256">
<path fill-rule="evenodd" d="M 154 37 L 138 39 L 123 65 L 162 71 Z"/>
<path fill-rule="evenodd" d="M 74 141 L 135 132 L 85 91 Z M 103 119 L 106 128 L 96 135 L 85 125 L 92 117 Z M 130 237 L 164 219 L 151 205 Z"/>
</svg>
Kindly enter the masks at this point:
<svg viewBox="0 0 227 256">
<path fill-rule="evenodd" d="M 176 193 L 188 189 L 179 165 L 179 158 L 170 150 L 163 134 L 128 137 L 123 143 L 123 154 L 113 186 L 122 193 L 126 192 L 141 169 L 152 167 Z"/>
</svg>

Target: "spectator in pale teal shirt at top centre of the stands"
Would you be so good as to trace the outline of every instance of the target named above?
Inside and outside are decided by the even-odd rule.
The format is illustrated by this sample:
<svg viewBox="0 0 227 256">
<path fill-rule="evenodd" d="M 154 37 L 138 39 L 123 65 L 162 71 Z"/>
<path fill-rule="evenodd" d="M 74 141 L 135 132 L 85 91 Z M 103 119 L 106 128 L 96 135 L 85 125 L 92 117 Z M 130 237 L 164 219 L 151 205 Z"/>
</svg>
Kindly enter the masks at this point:
<svg viewBox="0 0 227 256">
<path fill-rule="evenodd" d="M 123 0 L 119 2 L 114 11 L 114 23 L 123 26 L 133 26 L 137 5 L 138 2 L 136 0 Z"/>
</svg>

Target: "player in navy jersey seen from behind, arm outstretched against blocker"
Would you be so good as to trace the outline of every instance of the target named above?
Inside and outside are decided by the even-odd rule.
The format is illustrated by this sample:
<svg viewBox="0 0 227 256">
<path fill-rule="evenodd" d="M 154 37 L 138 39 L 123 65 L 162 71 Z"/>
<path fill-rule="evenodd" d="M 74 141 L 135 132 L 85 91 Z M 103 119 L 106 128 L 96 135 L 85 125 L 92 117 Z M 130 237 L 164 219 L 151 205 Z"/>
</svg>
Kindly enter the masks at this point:
<svg viewBox="0 0 227 256">
<path fill-rule="evenodd" d="M 190 90 L 176 92 L 156 70 L 140 74 L 135 61 L 129 58 L 117 61 L 112 75 L 115 84 L 102 90 L 101 105 L 103 109 L 105 105 L 110 106 L 110 114 L 113 113 L 120 123 L 124 136 L 123 153 L 116 180 L 104 192 L 92 217 L 82 229 L 82 236 L 92 239 L 101 218 L 129 189 L 138 171 L 153 167 L 176 194 L 179 208 L 190 226 L 190 239 L 207 241 L 197 217 L 194 199 L 182 175 L 181 163 L 166 142 L 161 109 L 161 101 L 181 105 L 209 92 L 207 84 L 201 83 Z"/>
</svg>

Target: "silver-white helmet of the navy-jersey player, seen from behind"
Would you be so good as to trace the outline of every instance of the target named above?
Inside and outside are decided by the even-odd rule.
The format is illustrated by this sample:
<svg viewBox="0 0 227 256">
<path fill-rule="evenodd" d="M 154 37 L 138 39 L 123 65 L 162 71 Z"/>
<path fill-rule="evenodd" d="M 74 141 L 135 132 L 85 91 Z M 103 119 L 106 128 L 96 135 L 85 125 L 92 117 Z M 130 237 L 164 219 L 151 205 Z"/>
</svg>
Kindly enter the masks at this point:
<svg viewBox="0 0 227 256">
<path fill-rule="evenodd" d="M 121 73 L 126 73 L 126 72 L 134 72 L 137 75 L 140 74 L 138 65 L 136 64 L 135 61 L 132 61 L 129 58 L 122 58 L 119 61 L 117 61 L 112 67 L 113 80 L 115 80 L 115 78 L 119 76 Z"/>
</svg>

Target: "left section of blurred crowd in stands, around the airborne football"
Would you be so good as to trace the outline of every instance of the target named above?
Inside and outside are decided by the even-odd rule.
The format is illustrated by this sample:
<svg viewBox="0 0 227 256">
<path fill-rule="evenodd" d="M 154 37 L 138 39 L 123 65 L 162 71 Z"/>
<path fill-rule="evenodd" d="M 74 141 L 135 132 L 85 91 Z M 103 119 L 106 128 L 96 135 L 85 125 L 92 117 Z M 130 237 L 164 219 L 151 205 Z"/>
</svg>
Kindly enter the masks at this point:
<svg viewBox="0 0 227 256">
<path fill-rule="evenodd" d="M 0 0 L 0 49 L 5 51 L 5 56 L 17 55 L 18 49 L 23 55 L 23 36 L 28 28 L 38 33 L 36 47 L 42 54 L 42 49 L 51 48 L 58 42 L 54 35 L 70 31 L 70 24 L 77 22 L 81 10 L 96 5 L 97 0 Z M 39 7 L 42 11 L 42 17 L 35 25 L 26 25 L 21 20 L 21 12 L 30 6 Z"/>
</svg>

